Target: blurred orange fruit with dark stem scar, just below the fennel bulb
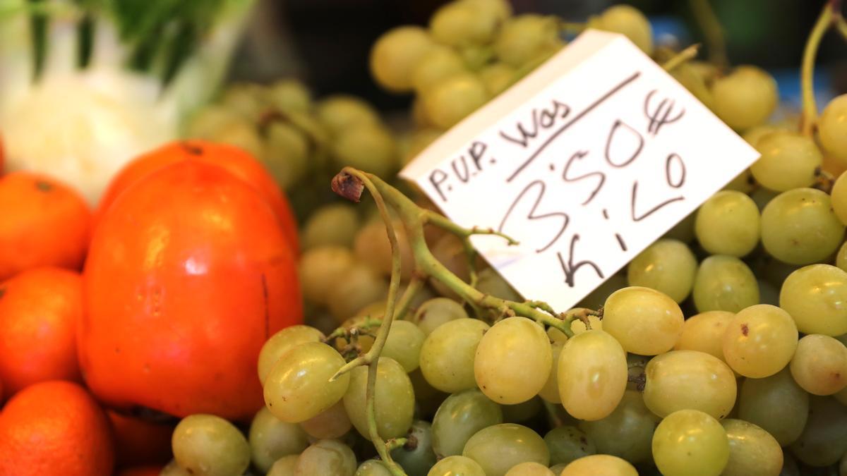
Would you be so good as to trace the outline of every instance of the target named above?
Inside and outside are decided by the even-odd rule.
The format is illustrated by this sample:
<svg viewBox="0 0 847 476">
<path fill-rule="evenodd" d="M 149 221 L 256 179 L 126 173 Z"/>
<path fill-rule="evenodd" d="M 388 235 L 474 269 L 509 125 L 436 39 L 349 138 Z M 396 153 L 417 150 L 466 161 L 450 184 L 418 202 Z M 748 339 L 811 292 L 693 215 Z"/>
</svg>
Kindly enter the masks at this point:
<svg viewBox="0 0 847 476">
<path fill-rule="evenodd" d="M 27 268 L 80 269 L 91 211 L 76 191 L 47 175 L 0 177 L 0 280 Z"/>
</svg>

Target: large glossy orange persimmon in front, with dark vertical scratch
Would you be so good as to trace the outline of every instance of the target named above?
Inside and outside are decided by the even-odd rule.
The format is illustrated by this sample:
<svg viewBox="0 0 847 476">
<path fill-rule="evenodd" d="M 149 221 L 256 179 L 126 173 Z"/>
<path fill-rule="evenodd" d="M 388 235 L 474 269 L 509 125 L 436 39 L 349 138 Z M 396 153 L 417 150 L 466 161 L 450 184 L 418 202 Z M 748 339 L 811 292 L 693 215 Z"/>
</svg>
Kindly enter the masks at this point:
<svg viewBox="0 0 847 476">
<path fill-rule="evenodd" d="M 77 343 L 108 405 L 246 420 L 263 342 L 302 322 L 296 262 L 262 196 L 181 161 L 115 198 L 91 240 Z"/>
</svg>

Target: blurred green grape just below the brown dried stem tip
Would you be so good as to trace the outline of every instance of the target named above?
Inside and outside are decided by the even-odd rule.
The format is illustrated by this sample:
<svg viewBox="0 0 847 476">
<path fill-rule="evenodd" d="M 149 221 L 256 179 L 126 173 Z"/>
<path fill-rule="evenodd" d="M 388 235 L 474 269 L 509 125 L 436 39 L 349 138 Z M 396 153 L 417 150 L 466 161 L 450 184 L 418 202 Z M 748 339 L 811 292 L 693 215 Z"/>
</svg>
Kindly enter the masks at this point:
<svg viewBox="0 0 847 476">
<path fill-rule="evenodd" d="M 346 203 L 331 203 L 315 210 L 300 234 L 304 250 L 317 246 L 352 246 L 359 228 L 356 208 Z"/>
</svg>

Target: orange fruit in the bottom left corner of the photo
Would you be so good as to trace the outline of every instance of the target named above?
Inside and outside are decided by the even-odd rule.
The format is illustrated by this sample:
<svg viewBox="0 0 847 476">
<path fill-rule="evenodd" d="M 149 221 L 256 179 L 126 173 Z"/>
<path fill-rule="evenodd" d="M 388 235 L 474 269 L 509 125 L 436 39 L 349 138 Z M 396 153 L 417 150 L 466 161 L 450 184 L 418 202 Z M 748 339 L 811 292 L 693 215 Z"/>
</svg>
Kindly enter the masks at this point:
<svg viewBox="0 0 847 476">
<path fill-rule="evenodd" d="M 113 462 L 108 419 L 80 385 L 30 385 L 0 412 L 0 474 L 106 476 Z"/>
</svg>

